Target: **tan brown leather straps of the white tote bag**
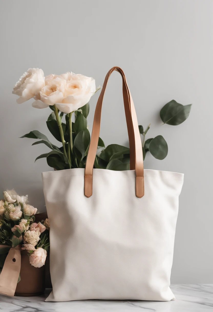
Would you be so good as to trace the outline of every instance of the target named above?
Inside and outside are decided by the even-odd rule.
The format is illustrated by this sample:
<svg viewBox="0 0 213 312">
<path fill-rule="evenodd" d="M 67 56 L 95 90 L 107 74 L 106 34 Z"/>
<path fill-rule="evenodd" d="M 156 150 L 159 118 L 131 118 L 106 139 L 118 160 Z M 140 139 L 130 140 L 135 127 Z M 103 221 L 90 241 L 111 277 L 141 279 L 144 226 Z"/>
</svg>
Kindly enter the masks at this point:
<svg viewBox="0 0 213 312">
<path fill-rule="evenodd" d="M 86 197 L 90 197 L 92 195 L 92 173 L 93 166 L 96 157 L 97 144 L 100 134 L 100 125 L 101 125 L 101 109 L 104 93 L 107 86 L 107 81 L 109 76 L 113 71 L 118 71 L 123 79 L 123 97 L 124 97 L 124 107 L 125 107 L 125 115 L 126 115 L 126 123 L 128 128 L 129 142 L 130 142 L 130 169 L 136 172 L 135 186 L 136 186 L 136 196 L 143 197 L 144 196 L 144 165 L 143 165 L 143 152 L 142 145 L 140 139 L 140 132 L 138 129 L 138 121 L 135 112 L 134 103 L 130 94 L 130 90 L 128 88 L 126 77 L 124 72 L 120 67 L 112 67 L 105 77 L 103 88 L 101 94 L 98 98 L 94 122 L 92 128 L 92 136 L 91 142 L 87 155 L 87 162 L 85 167 L 85 175 L 84 175 L 84 194 Z"/>
</svg>

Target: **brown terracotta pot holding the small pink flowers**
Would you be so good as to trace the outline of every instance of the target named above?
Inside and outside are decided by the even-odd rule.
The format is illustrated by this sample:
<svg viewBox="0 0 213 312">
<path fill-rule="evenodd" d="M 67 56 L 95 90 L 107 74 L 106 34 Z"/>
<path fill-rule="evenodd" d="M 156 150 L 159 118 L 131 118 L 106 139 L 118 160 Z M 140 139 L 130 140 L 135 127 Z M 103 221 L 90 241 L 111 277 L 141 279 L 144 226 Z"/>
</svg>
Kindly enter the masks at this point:
<svg viewBox="0 0 213 312">
<path fill-rule="evenodd" d="M 45 291 L 45 266 L 31 266 L 26 250 L 21 251 L 21 280 L 17 284 L 15 296 L 37 296 Z"/>
</svg>

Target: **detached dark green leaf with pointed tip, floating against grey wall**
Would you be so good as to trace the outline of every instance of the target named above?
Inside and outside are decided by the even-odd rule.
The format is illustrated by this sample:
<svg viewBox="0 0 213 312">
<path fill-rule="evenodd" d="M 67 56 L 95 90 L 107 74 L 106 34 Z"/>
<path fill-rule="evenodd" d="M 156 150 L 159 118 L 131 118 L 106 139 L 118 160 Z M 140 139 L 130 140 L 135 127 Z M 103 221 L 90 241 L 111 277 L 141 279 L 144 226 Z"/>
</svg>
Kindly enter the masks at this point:
<svg viewBox="0 0 213 312">
<path fill-rule="evenodd" d="M 192 104 L 184 106 L 177 103 L 175 100 L 172 100 L 160 110 L 160 118 L 164 124 L 177 126 L 178 124 L 182 124 L 182 122 L 188 118 L 191 106 Z"/>
</svg>

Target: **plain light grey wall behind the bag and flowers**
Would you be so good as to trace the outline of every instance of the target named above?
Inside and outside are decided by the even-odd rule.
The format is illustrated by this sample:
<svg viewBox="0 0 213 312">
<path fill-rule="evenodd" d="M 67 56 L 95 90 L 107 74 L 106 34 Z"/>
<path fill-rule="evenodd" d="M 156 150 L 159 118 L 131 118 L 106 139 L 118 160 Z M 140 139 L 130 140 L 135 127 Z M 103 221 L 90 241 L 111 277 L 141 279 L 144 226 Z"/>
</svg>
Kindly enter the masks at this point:
<svg viewBox="0 0 213 312">
<path fill-rule="evenodd" d="M 19 139 L 31 130 L 46 134 L 49 108 L 18 105 L 12 88 L 29 67 L 45 75 L 66 71 L 92 76 L 102 85 L 120 66 L 127 77 L 138 123 L 151 123 L 147 138 L 163 135 L 168 156 L 146 155 L 145 168 L 185 173 L 180 195 L 172 283 L 213 283 L 212 212 L 212 0 L 1 1 L 0 192 L 15 188 L 45 211 L 41 172 L 51 170 L 43 145 Z M 90 101 L 89 130 L 99 92 Z M 193 104 L 178 126 L 161 125 L 170 100 Z M 107 86 L 101 137 L 128 145 L 121 76 Z M 58 142 L 59 143 L 59 142 Z"/>
</svg>

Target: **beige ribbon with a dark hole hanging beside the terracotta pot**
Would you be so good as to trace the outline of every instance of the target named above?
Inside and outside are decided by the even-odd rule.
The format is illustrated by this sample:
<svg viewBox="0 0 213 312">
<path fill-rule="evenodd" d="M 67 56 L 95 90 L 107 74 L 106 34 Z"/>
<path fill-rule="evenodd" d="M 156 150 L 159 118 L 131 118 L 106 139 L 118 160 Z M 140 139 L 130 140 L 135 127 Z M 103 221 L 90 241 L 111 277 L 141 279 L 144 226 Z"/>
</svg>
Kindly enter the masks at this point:
<svg viewBox="0 0 213 312">
<path fill-rule="evenodd" d="M 11 247 L 0 245 L 0 248 Z M 14 296 L 21 270 L 21 245 L 10 248 L 0 274 L 0 294 Z"/>
</svg>

